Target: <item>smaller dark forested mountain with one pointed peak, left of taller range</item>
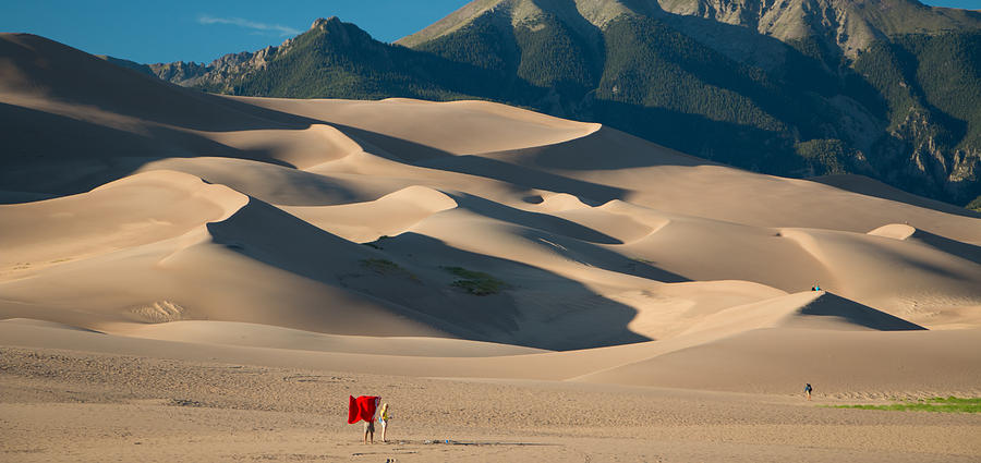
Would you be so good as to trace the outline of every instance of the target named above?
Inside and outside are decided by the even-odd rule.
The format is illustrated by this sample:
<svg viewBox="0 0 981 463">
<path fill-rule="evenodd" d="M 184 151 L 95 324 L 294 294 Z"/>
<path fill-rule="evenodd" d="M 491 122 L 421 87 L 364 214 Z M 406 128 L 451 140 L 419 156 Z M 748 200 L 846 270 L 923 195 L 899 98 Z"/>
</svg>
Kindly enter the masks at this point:
<svg viewBox="0 0 981 463">
<path fill-rule="evenodd" d="M 480 69 L 383 44 L 336 17 L 315 21 L 306 33 L 278 47 L 226 54 L 207 65 L 174 62 L 148 68 L 165 81 L 231 95 L 444 100 L 472 98 L 493 86 Z"/>
</svg>

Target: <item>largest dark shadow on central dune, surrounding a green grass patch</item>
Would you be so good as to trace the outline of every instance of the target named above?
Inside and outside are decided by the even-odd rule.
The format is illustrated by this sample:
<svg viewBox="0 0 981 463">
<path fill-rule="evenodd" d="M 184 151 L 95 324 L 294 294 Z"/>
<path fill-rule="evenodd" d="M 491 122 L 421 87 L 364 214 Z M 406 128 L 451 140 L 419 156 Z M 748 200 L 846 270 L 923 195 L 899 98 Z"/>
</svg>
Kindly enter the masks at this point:
<svg viewBox="0 0 981 463">
<path fill-rule="evenodd" d="M 404 233 L 386 240 L 384 248 L 359 245 L 252 198 L 230 218 L 208 223 L 207 229 L 215 243 L 237 253 L 379 301 L 392 316 L 464 339 L 549 350 L 650 340 L 627 328 L 637 315 L 633 308 L 577 281 L 526 264 L 453 248 L 428 236 Z M 370 261 L 392 265 L 378 268 Z M 492 275 L 507 289 L 486 296 L 469 294 L 452 285 L 460 278 L 445 269 L 452 266 Z M 578 305 L 570 308 L 573 303 Z"/>
</svg>

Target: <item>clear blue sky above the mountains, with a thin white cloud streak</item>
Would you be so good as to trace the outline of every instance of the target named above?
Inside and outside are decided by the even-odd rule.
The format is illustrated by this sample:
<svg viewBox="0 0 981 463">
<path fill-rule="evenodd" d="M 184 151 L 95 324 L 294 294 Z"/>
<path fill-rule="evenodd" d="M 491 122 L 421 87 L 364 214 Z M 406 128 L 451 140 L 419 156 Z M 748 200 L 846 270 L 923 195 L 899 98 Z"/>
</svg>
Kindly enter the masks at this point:
<svg viewBox="0 0 981 463">
<path fill-rule="evenodd" d="M 338 16 L 392 41 L 469 0 L 141 1 L 0 0 L 0 32 L 28 32 L 89 53 L 137 62 L 208 62 L 281 44 L 317 17 Z M 924 0 L 981 9 L 981 0 Z"/>
</svg>

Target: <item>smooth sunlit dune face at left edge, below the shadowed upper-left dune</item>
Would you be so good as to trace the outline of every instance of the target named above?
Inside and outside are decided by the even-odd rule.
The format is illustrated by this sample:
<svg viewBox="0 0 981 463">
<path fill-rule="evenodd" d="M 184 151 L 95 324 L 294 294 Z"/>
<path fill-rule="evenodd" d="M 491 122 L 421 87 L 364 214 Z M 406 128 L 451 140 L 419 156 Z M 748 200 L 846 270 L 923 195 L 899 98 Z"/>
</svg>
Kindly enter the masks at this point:
<svg viewBox="0 0 981 463">
<path fill-rule="evenodd" d="M 0 266 L 5 271 L 0 279 L 180 236 L 206 221 L 226 219 L 245 202 L 226 186 L 156 171 L 77 196 L 2 205 Z"/>
</svg>

